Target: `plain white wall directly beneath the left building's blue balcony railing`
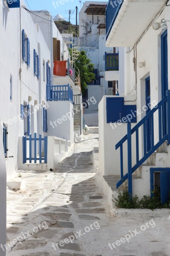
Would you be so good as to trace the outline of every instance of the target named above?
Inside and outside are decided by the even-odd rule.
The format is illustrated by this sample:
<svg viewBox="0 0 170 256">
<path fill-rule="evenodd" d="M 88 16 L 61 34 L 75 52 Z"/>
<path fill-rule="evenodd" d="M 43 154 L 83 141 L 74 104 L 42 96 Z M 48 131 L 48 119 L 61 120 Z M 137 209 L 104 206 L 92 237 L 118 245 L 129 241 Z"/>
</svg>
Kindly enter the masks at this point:
<svg viewBox="0 0 170 256">
<path fill-rule="evenodd" d="M 48 102 L 48 136 L 55 136 L 74 143 L 73 104 L 69 101 Z"/>
</svg>

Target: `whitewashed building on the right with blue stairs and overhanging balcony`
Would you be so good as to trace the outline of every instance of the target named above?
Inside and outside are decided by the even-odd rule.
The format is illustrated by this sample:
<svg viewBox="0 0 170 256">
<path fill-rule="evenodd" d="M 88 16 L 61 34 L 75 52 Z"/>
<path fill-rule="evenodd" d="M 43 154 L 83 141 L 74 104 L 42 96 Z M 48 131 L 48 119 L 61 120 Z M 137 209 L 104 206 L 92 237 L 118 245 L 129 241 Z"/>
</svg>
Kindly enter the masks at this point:
<svg viewBox="0 0 170 256">
<path fill-rule="evenodd" d="M 124 47 L 125 96 L 99 103 L 99 162 L 105 191 L 161 202 L 170 191 L 170 7 L 166 0 L 108 1 L 106 46 Z M 128 124 L 127 124 L 128 123 Z M 111 184 L 109 185 L 109 184 Z M 117 185 L 116 185 L 117 183 Z"/>
</svg>

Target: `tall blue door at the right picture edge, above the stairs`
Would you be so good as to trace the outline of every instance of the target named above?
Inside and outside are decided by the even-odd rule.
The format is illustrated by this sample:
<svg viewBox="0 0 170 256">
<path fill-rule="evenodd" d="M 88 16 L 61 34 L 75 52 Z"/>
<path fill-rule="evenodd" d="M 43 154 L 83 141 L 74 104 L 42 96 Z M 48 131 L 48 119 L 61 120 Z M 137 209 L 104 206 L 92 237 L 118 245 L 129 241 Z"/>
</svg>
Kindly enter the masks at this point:
<svg viewBox="0 0 170 256">
<path fill-rule="evenodd" d="M 161 91 L 162 99 L 166 96 L 168 90 L 168 57 L 167 57 L 167 30 L 161 36 Z M 166 104 L 166 103 L 165 103 Z M 163 136 L 166 135 L 166 109 L 162 108 Z"/>
</svg>

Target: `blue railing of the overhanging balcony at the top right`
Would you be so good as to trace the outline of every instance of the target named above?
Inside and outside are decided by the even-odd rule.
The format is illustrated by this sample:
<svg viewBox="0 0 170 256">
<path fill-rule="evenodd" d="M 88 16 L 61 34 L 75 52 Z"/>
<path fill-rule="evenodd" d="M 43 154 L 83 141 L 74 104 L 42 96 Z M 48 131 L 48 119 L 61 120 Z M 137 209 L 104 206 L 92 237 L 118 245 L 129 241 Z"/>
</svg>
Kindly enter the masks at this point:
<svg viewBox="0 0 170 256">
<path fill-rule="evenodd" d="M 118 3 L 118 1 L 114 0 L 109 0 L 108 2 L 108 5 L 106 7 L 106 39 L 108 38 L 108 35 L 111 32 L 111 28 L 116 20 L 122 3 L 123 1 L 121 1 L 121 3 Z"/>
</svg>

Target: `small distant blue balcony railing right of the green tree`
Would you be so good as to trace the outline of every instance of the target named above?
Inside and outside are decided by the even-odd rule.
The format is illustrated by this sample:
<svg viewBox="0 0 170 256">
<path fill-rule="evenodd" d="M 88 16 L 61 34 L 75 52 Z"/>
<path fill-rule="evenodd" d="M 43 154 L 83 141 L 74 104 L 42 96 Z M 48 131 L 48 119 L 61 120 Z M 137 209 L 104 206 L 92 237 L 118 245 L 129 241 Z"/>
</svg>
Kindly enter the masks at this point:
<svg viewBox="0 0 170 256">
<path fill-rule="evenodd" d="M 119 70 L 119 53 L 105 52 L 105 71 Z"/>
</svg>

